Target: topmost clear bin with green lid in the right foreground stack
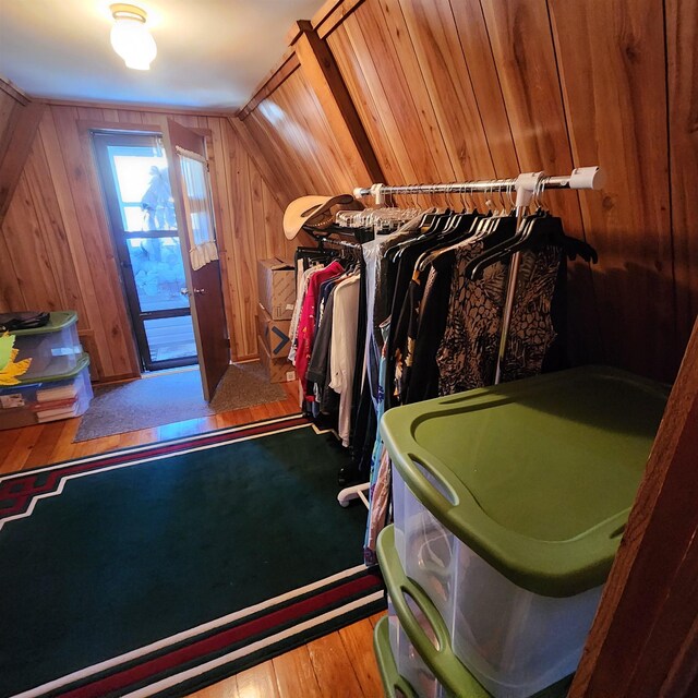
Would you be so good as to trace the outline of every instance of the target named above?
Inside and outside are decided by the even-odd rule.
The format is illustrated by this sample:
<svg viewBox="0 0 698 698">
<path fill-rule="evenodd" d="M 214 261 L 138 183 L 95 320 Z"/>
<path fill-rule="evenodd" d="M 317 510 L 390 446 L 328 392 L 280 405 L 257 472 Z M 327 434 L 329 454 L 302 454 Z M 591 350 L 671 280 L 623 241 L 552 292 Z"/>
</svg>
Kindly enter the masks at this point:
<svg viewBox="0 0 698 698">
<path fill-rule="evenodd" d="M 666 396 L 585 368 L 384 416 L 399 561 L 493 696 L 576 669 Z"/>
</svg>

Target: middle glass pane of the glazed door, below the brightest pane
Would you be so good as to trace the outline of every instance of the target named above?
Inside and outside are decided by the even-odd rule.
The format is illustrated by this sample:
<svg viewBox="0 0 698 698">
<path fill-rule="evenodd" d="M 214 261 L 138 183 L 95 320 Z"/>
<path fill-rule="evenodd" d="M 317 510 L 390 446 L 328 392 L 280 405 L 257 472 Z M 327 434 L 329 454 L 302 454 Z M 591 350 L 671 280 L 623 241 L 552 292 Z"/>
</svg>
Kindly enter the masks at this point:
<svg viewBox="0 0 698 698">
<path fill-rule="evenodd" d="M 179 238 L 128 238 L 127 248 L 142 312 L 189 308 Z"/>
</svg>

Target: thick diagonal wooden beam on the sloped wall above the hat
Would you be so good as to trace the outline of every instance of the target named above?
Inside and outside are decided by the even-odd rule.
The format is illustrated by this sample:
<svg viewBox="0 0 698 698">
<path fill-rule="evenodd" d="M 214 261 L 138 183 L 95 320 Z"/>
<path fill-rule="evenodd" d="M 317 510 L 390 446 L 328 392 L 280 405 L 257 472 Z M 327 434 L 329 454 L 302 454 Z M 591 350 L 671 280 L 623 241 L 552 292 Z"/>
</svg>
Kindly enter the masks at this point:
<svg viewBox="0 0 698 698">
<path fill-rule="evenodd" d="M 356 181 L 383 182 L 383 169 L 329 47 L 310 22 L 298 22 L 298 27 L 296 55 Z"/>
</svg>

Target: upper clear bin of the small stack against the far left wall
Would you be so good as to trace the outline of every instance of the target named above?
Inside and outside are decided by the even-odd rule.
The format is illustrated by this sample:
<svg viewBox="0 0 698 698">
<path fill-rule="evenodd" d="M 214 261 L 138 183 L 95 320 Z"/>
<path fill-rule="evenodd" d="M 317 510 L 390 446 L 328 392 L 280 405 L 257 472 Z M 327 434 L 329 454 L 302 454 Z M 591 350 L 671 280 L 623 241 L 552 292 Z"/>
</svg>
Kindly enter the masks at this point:
<svg viewBox="0 0 698 698">
<path fill-rule="evenodd" d="M 69 373 L 75 369 L 83 352 L 74 311 L 53 312 L 44 327 L 17 329 L 11 334 L 16 337 L 17 361 L 32 359 L 29 370 L 22 376 L 25 381 Z"/>
</svg>

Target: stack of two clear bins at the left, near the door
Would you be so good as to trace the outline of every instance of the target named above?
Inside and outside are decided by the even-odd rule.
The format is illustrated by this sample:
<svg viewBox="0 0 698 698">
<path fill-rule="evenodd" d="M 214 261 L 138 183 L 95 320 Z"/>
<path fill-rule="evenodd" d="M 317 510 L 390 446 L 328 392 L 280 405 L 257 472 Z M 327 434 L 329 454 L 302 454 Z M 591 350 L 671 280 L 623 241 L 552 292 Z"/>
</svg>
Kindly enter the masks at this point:
<svg viewBox="0 0 698 698">
<path fill-rule="evenodd" d="M 17 329 L 17 361 L 32 359 L 19 385 L 0 388 L 0 429 L 15 429 L 83 414 L 93 397 L 89 357 L 77 337 L 77 314 L 50 314 L 43 327 Z"/>
</svg>

